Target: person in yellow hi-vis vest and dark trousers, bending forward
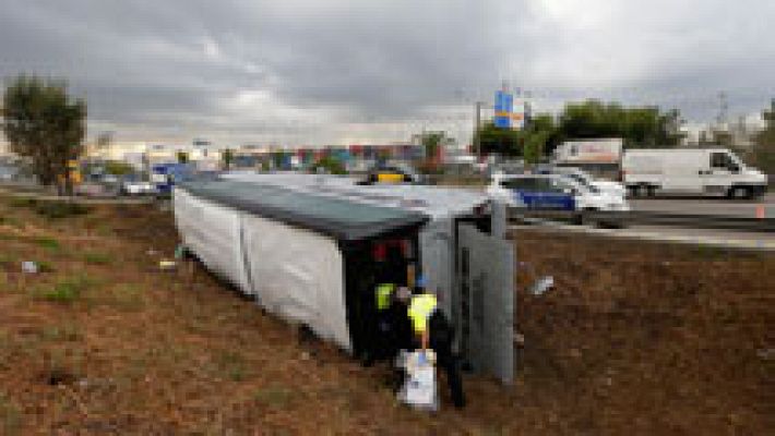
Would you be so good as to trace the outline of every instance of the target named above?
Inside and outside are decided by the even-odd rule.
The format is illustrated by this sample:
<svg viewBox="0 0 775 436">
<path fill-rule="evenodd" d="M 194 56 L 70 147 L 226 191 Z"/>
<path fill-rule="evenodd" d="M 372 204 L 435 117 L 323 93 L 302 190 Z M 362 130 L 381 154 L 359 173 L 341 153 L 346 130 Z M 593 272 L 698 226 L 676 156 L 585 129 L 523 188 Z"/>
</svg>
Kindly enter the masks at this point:
<svg viewBox="0 0 775 436">
<path fill-rule="evenodd" d="M 426 355 L 434 355 L 439 367 L 446 373 L 452 402 L 456 408 L 461 409 L 465 407 L 466 401 L 463 393 L 460 360 L 452 352 L 454 329 L 446 315 L 439 308 L 437 296 L 424 289 L 425 280 L 422 278 L 418 278 L 417 286 L 422 289 L 412 298 L 407 311 L 412 320 L 412 328 L 418 340 L 419 348 L 424 352 L 433 350 L 433 353 L 426 353 Z"/>
</svg>

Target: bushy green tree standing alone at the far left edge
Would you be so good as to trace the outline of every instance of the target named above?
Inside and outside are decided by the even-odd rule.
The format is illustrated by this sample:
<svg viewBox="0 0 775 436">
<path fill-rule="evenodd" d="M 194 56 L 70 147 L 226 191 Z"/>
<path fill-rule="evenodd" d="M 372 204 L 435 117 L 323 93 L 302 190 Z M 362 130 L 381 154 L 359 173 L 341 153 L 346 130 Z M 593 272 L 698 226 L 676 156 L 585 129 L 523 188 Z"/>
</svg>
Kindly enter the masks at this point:
<svg viewBox="0 0 775 436">
<path fill-rule="evenodd" d="M 29 162 L 43 185 L 72 192 L 68 164 L 83 153 L 86 102 L 71 98 L 64 81 L 20 75 L 5 88 L 2 116 L 11 152 Z"/>
</svg>

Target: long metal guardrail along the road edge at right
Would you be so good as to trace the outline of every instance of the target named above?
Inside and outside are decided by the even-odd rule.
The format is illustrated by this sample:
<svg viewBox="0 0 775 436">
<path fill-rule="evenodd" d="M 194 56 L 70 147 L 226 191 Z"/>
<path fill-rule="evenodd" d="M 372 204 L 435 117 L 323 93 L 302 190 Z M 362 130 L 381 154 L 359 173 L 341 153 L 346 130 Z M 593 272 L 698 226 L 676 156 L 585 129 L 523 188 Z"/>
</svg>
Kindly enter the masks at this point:
<svg viewBox="0 0 775 436">
<path fill-rule="evenodd" d="M 581 213 L 564 210 L 528 210 L 511 209 L 509 218 L 518 221 L 520 218 L 544 218 L 560 220 L 580 220 L 606 225 L 651 225 L 672 226 L 695 229 L 719 229 L 751 232 L 775 232 L 775 218 L 748 218 L 719 215 L 684 215 L 651 211 L 597 211 Z"/>
</svg>

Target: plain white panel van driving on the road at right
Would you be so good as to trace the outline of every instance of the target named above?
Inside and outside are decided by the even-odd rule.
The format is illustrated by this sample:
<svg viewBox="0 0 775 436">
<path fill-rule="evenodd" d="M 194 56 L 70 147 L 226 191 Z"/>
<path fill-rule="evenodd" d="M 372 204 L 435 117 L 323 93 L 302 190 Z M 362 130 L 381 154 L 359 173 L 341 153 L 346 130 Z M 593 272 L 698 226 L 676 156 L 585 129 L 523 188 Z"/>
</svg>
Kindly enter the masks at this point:
<svg viewBox="0 0 775 436">
<path fill-rule="evenodd" d="M 753 198 L 767 189 L 766 174 L 726 148 L 630 149 L 622 158 L 622 181 L 633 196 Z"/>
</svg>

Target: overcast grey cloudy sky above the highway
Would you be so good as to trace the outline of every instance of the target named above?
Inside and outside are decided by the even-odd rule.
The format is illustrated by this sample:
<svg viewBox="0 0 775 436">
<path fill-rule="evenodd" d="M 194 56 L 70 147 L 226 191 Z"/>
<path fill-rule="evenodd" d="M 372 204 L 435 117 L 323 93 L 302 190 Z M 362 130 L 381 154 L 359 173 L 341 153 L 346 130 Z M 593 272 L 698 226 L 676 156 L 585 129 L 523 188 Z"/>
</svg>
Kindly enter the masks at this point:
<svg viewBox="0 0 775 436">
<path fill-rule="evenodd" d="M 90 134 L 326 144 L 470 134 L 505 80 L 703 122 L 775 97 L 773 0 L 2 0 L 0 76 L 67 77 Z"/>
</svg>

